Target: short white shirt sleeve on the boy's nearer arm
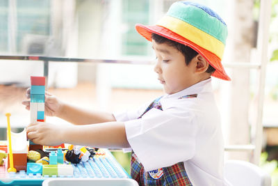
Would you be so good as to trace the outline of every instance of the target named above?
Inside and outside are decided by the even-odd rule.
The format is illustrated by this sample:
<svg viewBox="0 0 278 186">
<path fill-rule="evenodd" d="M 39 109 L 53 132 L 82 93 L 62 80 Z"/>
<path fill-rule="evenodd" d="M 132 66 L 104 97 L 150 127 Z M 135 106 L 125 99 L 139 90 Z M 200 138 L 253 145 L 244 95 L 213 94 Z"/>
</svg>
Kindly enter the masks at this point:
<svg viewBox="0 0 278 186">
<path fill-rule="evenodd" d="M 126 121 L 126 137 L 146 171 L 195 155 L 197 123 L 190 111 L 150 109 L 142 118 Z"/>
</svg>

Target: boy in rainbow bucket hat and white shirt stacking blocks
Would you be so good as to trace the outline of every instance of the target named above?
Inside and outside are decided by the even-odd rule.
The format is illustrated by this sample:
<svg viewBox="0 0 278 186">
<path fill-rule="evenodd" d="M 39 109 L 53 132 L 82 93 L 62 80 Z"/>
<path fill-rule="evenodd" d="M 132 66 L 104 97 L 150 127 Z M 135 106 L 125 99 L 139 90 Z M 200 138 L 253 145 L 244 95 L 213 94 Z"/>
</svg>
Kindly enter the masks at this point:
<svg viewBox="0 0 278 186">
<path fill-rule="evenodd" d="M 131 176 L 139 185 L 226 185 L 211 88 L 211 75 L 229 80 L 221 65 L 226 24 L 206 6 L 184 1 L 173 3 L 155 26 L 136 29 L 152 41 L 154 71 L 166 94 L 138 111 L 108 114 L 77 109 L 47 93 L 46 114 L 75 125 L 31 123 L 28 138 L 48 146 L 131 148 Z"/>
</svg>

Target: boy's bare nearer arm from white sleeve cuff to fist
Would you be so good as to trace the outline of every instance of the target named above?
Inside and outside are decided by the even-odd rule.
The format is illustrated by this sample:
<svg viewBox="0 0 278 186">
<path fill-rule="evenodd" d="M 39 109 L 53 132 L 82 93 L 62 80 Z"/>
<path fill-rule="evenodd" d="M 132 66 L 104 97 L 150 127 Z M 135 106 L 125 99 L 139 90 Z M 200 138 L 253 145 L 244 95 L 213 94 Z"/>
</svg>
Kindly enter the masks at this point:
<svg viewBox="0 0 278 186">
<path fill-rule="evenodd" d="M 70 125 L 63 128 L 51 123 L 32 123 L 27 127 L 28 139 L 35 144 L 56 146 L 62 143 L 98 148 L 129 148 L 122 122 L 94 125 Z"/>
</svg>

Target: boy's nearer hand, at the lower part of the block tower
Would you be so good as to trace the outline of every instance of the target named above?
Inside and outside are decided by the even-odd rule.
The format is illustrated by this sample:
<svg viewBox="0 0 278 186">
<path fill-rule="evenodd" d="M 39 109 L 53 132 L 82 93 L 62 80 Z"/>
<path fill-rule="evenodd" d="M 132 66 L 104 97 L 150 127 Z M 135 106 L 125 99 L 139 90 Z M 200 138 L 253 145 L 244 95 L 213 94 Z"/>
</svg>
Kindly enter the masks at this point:
<svg viewBox="0 0 278 186">
<path fill-rule="evenodd" d="M 63 144 L 63 130 L 65 128 L 51 123 L 36 122 L 26 127 L 27 137 L 35 144 L 44 146 L 58 146 Z"/>
</svg>

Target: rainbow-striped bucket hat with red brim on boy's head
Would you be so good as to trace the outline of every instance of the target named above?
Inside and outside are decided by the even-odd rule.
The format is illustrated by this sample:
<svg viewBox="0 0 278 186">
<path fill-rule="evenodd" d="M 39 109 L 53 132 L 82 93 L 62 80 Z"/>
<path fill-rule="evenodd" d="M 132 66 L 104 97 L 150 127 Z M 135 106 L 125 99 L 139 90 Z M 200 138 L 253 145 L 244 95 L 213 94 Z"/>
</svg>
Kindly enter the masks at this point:
<svg viewBox="0 0 278 186">
<path fill-rule="evenodd" d="M 213 77 L 231 80 L 221 60 L 227 38 L 227 25 L 210 8 L 190 1 L 173 3 L 154 26 L 136 24 L 140 35 L 152 41 L 152 33 L 195 49 L 215 68 Z"/>
</svg>

